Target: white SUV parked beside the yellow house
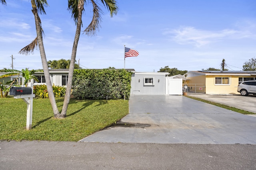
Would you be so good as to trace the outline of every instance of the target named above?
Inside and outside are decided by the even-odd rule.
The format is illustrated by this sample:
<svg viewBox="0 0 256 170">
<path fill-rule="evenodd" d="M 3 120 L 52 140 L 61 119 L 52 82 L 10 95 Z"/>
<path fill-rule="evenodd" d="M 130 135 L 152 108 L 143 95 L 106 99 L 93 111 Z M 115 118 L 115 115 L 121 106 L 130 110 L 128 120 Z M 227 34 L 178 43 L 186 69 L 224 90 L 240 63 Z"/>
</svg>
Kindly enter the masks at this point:
<svg viewBox="0 0 256 170">
<path fill-rule="evenodd" d="M 237 87 L 237 91 L 242 96 L 248 96 L 248 94 L 256 94 L 256 80 L 244 81 Z"/>
</svg>

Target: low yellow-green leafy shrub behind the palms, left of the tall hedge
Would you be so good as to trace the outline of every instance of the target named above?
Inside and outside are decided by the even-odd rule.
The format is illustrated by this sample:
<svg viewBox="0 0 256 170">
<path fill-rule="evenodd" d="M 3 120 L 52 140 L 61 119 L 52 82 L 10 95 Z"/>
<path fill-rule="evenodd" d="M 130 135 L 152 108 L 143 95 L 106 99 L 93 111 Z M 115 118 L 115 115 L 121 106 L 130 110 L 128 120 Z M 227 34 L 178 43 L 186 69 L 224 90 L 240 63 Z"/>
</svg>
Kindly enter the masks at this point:
<svg viewBox="0 0 256 170">
<path fill-rule="evenodd" d="M 66 88 L 64 86 L 52 86 L 54 96 L 56 98 L 61 98 L 65 96 Z M 47 92 L 47 86 L 46 85 L 36 85 L 34 86 L 34 94 L 37 98 L 49 98 L 48 92 Z"/>
</svg>

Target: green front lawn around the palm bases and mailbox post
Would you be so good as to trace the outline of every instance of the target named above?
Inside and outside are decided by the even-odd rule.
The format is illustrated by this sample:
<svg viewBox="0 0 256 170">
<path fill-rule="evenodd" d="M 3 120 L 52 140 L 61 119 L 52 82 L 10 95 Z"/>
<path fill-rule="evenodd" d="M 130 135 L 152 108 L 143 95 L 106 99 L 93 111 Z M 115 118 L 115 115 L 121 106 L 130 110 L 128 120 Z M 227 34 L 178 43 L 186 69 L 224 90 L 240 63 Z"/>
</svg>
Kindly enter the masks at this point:
<svg viewBox="0 0 256 170">
<path fill-rule="evenodd" d="M 64 98 L 56 98 L 62 109 Z M 27 104 L 0 98 L 0 140 L 79 141 L 129 113 L 128 100 L 70 99 L 67 117 L 55 119 L 49 99 L 33 100 L 32 129 L 26 130 Z"/>
</svg>

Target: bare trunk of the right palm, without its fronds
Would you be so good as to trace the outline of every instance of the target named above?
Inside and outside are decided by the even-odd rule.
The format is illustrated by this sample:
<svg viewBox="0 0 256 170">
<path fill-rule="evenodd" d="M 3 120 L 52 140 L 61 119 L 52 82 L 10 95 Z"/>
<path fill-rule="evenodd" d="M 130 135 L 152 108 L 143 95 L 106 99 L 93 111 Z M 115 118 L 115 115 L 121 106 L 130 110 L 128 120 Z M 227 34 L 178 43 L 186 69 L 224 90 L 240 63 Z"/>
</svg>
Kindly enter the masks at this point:
<svg viewBox="0 0 256 170">
<path fill-rule="evenodd" d="M 69 66 L 69 72 L 68 72 L 68 82 L 67 82 L 67 88 L 66 88 L 66 94 L 65 99 L 62 107 L 62 111 L 60 114 L 60 117 L 66 117 L 67 110 L 68 110 L 68 103 L 70 101 L 70 93 L 72 88 L 72 79 L 74 74 L 74 67 L 76 62 L 76 51 L 77 51 L 77 45 L 80 37 L 80 31 L 81 31 L 81 25 L 82 25 L 82 10 L 84 8 L 84 0 L 79 0 L 78 2 L 78 21 L 76 25 L 76 34 L 74 38 L 73 48 L 72 48 L 72 54 L 71 54 L 71 61 Z"/>
</svg>

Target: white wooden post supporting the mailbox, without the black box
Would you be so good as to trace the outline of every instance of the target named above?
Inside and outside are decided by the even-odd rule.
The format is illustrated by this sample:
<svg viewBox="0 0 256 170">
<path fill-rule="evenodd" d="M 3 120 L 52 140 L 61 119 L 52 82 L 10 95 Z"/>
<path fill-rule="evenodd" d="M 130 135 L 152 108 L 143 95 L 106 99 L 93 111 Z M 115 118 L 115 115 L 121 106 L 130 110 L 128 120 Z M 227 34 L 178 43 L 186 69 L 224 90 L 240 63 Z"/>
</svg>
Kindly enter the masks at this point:
<svg viewBox="0 0 256 170">
<path fill-rule="evenodd" d="M 26 129 L 30 130 L 32 128 L 32 112 L 33 112 L 33 83 L 28 83 L 28 87 L 32 88 L 32 94 L 20 94 L 14 96 L 14 99 L 22 99 L 27 104 L 27 125 Z"/>
</svg>

